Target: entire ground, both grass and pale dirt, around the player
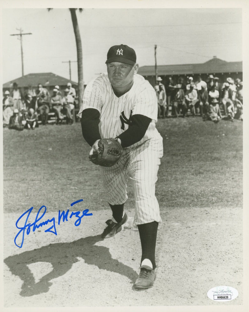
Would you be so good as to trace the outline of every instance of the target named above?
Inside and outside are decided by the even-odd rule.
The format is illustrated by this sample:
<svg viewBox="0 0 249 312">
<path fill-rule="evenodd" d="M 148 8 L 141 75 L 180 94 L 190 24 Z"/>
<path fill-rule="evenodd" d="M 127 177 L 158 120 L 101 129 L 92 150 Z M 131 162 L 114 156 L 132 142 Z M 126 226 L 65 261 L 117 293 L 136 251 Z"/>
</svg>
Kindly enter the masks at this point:
<svg viewBox="0 0 249 312">
<path fill-rule="evenodd" d="M 102 240 L 110 218 L 98 166 L 80 124 L 3 131 L 5 307 L 212 306 L 243 304 L 242 122 L 208 123 L 199 118 L 159 120 L 164 157 L 156 195 L 162 223 L 156 248 L 157 279 L 134 290 L 139 273 L 139 233 L 124 229 Z M 133 193 L 125 210 L 134 216 Z M 71 207 L 76 200 L 84 199 Z M 42 205 L 55 218 L 57 235 L 37 228 L 14 238 L 18 217 Z M 77 208 L 76 208 L 77 207 Z M 74 210 L 72 210 L 74 208 Z M 89 209 L 61 221 L 59 210 Z M 57 222 L 57 223 L 56 223 Z M 51 223 L 50 223 L 51 224 Z M 20 244 L 18 236 L 17 244 Z M 212 287 L 238 290 L 231 302 L 207 297 Z"/>
</svg>

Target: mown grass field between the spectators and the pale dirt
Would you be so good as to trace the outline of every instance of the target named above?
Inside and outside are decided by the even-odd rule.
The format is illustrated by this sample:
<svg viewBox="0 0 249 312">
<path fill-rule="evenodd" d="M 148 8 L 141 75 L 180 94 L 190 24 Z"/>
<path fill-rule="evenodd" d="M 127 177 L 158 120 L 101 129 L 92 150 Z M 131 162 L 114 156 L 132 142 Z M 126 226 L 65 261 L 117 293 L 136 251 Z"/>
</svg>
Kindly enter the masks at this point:
<svg viewBox="0 0 249 312">
<path fill-rule="evenodd" d="M 156 196 L 160 209 L 242 207 L 242 122 L 203 122 L 200 117 L 159 119 L 164 157 Z M 83 198 L 91 210 L 107 208 L 99 167 L 81 125 L 47 125 L 34 131 L 3 129 L 4 211 L 45 205 L 67 209 Z M 126 207 L 133 208 L 128 184 Z"/>
</svg>

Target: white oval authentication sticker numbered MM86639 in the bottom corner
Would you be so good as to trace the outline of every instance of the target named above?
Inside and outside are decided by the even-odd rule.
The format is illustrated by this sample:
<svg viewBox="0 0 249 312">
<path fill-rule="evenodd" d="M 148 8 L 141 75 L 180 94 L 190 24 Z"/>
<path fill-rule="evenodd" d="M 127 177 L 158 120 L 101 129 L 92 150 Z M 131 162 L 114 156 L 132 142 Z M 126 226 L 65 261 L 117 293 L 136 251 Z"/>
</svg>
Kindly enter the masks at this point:
<svg viewBox="0 0 249 312">
<path fill-rule="evenodd" d="M 216 286 L 208 290 L 208 298 L 214 301 L 231 301 L 238 296 L 238 291 L 230 286 Z"/>
</svg>

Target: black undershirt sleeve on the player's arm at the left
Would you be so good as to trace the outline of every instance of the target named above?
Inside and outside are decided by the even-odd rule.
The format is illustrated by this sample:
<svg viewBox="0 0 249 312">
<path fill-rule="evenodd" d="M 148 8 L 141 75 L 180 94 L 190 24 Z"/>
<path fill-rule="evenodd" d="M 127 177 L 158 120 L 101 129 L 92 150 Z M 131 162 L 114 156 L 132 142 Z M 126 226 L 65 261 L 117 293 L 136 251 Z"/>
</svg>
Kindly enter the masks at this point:
<svg viewBox="0 0 249 312">
<path fill-rule="evenodd" d="M 81 130 L 86 142 L 92 146 L 96 140 L 100 140 L 99 131 L 100 112 L 95 108 L 87 108 L 81 114 Z"/>
</svg>

